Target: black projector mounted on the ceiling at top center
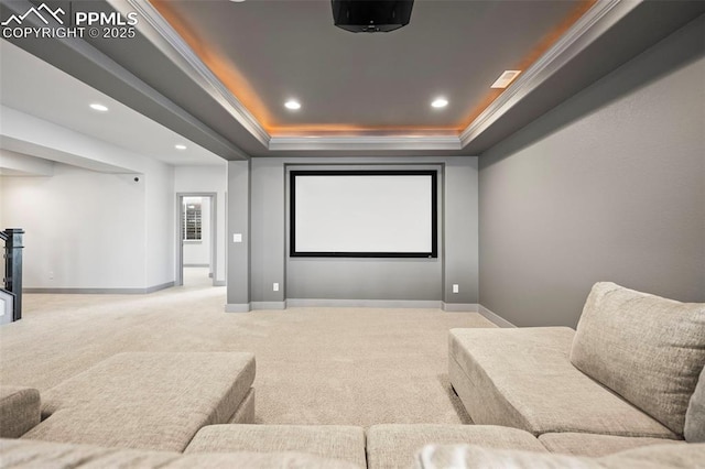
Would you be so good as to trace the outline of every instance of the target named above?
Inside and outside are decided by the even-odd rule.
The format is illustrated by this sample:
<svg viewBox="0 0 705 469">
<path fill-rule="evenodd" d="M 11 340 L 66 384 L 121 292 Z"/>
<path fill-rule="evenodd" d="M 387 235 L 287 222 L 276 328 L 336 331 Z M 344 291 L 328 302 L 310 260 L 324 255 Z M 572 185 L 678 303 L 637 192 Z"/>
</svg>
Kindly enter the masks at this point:
<svg viewBox="0 0 705 469">
<path fill-rule="evenodd" d="M 409 24 L 414 0 L 332 0 L 333 23 L 354 33 L 387 33 Z"/>
</svg>

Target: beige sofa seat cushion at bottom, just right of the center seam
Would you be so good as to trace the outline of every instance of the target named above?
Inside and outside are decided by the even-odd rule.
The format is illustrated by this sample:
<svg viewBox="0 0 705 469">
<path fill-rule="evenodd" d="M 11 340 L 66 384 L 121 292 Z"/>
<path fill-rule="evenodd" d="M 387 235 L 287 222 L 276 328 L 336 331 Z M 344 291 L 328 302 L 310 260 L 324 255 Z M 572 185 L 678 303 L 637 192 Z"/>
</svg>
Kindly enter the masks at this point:
<svg viewBox="0 0 705 469">
<path fill-rule="evenodd" d="M 513 448 L 545 452 L 530 433 L 491 425 L 372 425 L 367 430 L 369 469 L 406 468 L 414 455 L 429 444 L 474 444 L 488 448 Z"/>
</svg>

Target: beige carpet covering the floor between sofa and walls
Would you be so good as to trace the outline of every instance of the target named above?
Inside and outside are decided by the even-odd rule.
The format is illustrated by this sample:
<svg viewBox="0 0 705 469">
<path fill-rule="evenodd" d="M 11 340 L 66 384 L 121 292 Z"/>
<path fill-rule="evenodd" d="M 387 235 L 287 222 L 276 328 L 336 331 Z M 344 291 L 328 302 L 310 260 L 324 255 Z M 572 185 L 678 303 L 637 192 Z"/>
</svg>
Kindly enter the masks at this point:
<svg viewBox="0 0 705 469">
<path fill-rule="evenodd" d="M 292 308 L 224 313 L 225 287 L 24 295 L 0 327 L 0 382 L 56 385 L 120 351 L 251 351 L 262 424 L 470 423 L 447 377 L 447 331 L 474 313 Z"/>
</svg>

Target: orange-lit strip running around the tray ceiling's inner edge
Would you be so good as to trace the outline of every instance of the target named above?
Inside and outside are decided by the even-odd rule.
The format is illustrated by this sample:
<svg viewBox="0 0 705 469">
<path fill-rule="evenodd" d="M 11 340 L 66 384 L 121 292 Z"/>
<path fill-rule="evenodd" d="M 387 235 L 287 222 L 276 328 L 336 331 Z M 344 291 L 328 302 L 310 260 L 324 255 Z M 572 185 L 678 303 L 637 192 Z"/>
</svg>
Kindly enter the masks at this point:
<svg viewBox="0 0 705 469">
<path fill-rule="evenodd" d="M 487 84 L 488 91 L 480 102 L 470 106 L 466 113 L 466 118 L 457 122 L 453 127 L 431 127 L 419 128 L 413 126 L 405 127 L 365 127 L 357 124 L 302 124 L 302 126 L 282 126 L 273 118 L 272 113 L 267 109 L 262 100 L 254 91 L 254 87 L 250 85 L 247 78 L 238 70 L 227 57 L 221 55 L 187 24 L 187 22 L 178 14 L 176 9 L 170 4 L 169 0 L 150 0 L 152 6 L 159 13 L 171 24 L 171 26 L 181 35 L 188 44 L 194 53 L 203 61 L 203 63 L 213 72 L 213 74 L 232 92 L 234 96 L 254 116 L 262 128 L 272 137 L 356 137 L 356 135 L 458 135 L 477 117 L 487 109 L 505 89 L 491 89 Z M 534 62 L 536 62 L 557 40 L 583 17 L 597 0 L 577 0 L 576 7 L 571 13 L 550 31 L 532 50 L 517 64 L 507 66 L 507 69 L 525 72 Z M 498 74 L 502 70 L 498 70 Z M 521 75 L 519 75 L 521 76 Z M 511 85 L 510 85 L 511 86 Z"/>
</svg>

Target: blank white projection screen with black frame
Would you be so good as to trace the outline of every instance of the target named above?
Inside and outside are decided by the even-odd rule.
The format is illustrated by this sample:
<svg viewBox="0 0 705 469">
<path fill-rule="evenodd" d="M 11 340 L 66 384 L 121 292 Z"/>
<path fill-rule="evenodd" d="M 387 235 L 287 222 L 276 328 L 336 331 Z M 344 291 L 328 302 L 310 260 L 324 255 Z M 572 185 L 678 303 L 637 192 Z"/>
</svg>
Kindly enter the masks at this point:
<svg viewBox="0 0 705 469">
<path fill-rule="evenodd" d="M 435 171 L 290 175 L 292 257 L 437 257 Z"/>
</svg>

